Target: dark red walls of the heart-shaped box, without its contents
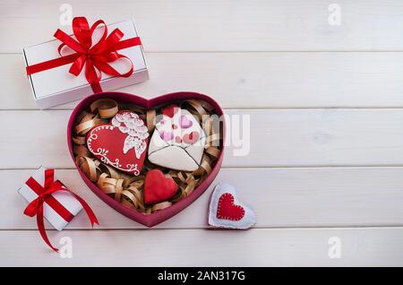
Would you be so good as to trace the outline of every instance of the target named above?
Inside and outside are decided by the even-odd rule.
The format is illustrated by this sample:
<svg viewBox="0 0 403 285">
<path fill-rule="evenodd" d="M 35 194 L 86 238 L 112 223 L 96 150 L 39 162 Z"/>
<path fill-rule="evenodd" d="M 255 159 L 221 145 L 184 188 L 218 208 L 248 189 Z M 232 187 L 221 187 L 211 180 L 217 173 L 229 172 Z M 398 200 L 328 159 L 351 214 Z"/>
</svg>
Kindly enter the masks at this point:
<svg viewBox="0 0 403 285">
<path fill-rule="evenodd" d="M 222 109 L 219 107 L 219 104 L 214 100 L 211 99 L 209 96 L 201 94 L 201 93 L 196 93 L 196 92 L 175 92 L 175 93 L 170 93 L 166 95 L 159 96 L 157 98 L 153 99 L 144 99 L 140 96 L 133 95 L 133 94 L 128 94 L 128 93 L 122 93 L 122 92 L 102 92 L 94 95 L 90 95 L 86 99 L 81 100 L 81 102 L 76 106 L 76 108 L 73 109 L 73 113 L 70 116 L 69 119 L 69 124 L 67 125 L 67 143 L 70 151 L 70 155 L 72 156 L 72 159 L 75 163 L 75 158 L 73 154 L 73 142 L 72 142 L 72 134 L 73 134 L 73 127 L 74 127 L 74 122 L 77 118 L 77 116 L 83 111 L 84 109 L 88 108 L 90 104 L 98 99 L 102 98 L 109 98 L 109 99 L 115 99 L 118 103 L 130 103 L 136 106 L 139 106 L 141 108 L 145 109 L 150 109 L 150 108 L 156 108 L 161 105 L 166 105 L 172 102 L 178 102 L 178 101 L 184 101 L 186 99 L 201 99 L 204 100 L 215 109 L 215 113 L 219 115 L 219 117 L 223 116 L 224 113 Z M 224 117 L 222 117 L 222 135 L 223 135 L 223 140 L 222 142 L 225 142 L 225 120 Z M 112 197 L 109 197 L 107 194 L 103 193 L 102 190 L 99 189 L 98 186 L 93 184 L 88 177 L 81 171 L 81 168 L 78 167 L 78 165 L 75 163 L 75 167 L 78 169 L 82 180 L 84 180 L 85 184 L 90 187 L 91 191 L 99 196 L 100 199 L 102 199 L 105 203 L 107 203 L 110 207 L 114 208 L 117 212 L 122 213 L 124 216 L 135 220 L 137 222 L 140 222 L 141 224 L 147 226 L 147 227 L 153 227 L 160 222 L 167 220 L 173 216 L 176 215 L 176 213 L 181 212 L 186 208 L 188 205 L 193 203 L 194 200 L 196 200 L 201 194 L 204 193 L 204 191 L 207 190 L 207 188 L 210 186 L 210 184 L 213 182 L 214 178 L 217 176 L 219 173 L 219 168 L 221 167 L 222 160 L 224 158 L 224 145 L 221 145 L 221 151 L 219 153 L 219 158 L 216 160 L 216 163 L 214 167 L 212 168 L 210 175 L 204 179 L 204 181 L 201 182 L 199 186 L 197 186 L 191 194 L 188 196 L 184 197 L 182 200 L 174 203 L 173 205 L 160 210 L 159 212 L 153 212 L 150 214 L 143 214 L 141 212 L 137 212 L 133 209 L 130 209 L 128 207 L 125 207 L 123 204 L 117 202 L 115 199 Z"/>
</svg>

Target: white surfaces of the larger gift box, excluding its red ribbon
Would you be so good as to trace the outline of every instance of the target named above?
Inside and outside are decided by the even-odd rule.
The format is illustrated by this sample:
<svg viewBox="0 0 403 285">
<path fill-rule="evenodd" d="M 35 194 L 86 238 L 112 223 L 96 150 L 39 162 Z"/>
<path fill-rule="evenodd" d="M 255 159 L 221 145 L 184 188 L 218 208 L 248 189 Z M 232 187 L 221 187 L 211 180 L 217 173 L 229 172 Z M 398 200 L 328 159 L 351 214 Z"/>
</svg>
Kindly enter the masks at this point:
<svg viewBox="0 0 403 285">
<path fill-rule="evenodd" d="M 122 40 L 139 37 L 133 19 L 107 25 L 108 34 L 116 28 L 124 33 Z M 93 39 L 99 39 L 103 30 L 104 28 L 102 27 L 96 29 Z M 60 44 L 61 41 L 54 39 L 24 48 L 25 65 L 36 65 L 60 57 L 57 51 Z M 130 58 L 133 62 L 134 72 L 129 77 L 116 77 L 102 73 L 102 79 L 99 84 L 103 91 L 115 90 L 149 79 L 148 67 L 141 45 L 120 49 L 118 53 Z M 93 94 L 91 86 L 85 78 L 85 67 L 78 76 L 75 76 L 69 73 L 71 65 L 61 65 L 29 75 L 33 98 L 37 101 L 39 108 L 54 107 L 77 99 L 83 99 Z M 110 65 L 121 73 L 128 69 L 127 60 L 116 60 Z"/>
</svg>

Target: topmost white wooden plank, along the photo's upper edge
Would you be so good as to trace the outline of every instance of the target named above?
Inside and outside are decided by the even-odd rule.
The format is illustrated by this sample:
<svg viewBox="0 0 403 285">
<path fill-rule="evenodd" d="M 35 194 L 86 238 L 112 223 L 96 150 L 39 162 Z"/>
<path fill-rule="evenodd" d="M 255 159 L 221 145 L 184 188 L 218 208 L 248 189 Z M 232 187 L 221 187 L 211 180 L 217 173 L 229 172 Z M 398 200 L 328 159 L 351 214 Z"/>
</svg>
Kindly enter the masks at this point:
<svg viewBox="0 0 403 285">
<path fill-rule="evenodd" d="M 60 2 L 2 1 L 0 52 L 20 52 L 52 38 Z M 173 1 L 70 0 L 90 22 L 134 16 L 147 51 L 401 50 L 403 3 L 339 0 L 340 25 L 329 24 L 328 2 L 313 0 Z M 40 8 L 39 8 L 40 7 Z M 35 11 L 36 13 L 32 13 Z M 113 13 L 111 13 L 113 11 Z M 91 16 L 90 16 L 91 15 Z"/>
</svg>

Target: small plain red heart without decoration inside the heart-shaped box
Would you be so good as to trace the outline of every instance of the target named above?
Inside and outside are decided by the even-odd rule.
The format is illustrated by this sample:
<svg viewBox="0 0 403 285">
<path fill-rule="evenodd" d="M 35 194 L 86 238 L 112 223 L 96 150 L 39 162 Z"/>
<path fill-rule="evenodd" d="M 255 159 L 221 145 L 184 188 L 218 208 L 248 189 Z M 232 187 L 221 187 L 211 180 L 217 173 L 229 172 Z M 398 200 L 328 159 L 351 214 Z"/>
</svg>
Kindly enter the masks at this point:
<svg viewBox="0 0 403 285">
<path fill-rule="evenodd" d="M 174 179 L 164 176 L 159 169 L 147 172 L 144 181 L 144 203 L 152 204 L 167 201 L 176 194 L 177 185 Z"/>
</svg>

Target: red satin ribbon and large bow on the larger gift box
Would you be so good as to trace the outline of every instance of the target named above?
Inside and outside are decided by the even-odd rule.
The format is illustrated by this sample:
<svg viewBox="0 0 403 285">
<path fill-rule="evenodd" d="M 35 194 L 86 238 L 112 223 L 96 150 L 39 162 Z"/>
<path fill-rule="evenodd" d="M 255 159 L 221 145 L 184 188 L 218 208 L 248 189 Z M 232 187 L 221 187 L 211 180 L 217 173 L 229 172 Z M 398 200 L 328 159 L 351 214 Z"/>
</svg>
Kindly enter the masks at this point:
<svg viewBox="0 0 403 285">
<path fill-rule="evenodd" d="M 94 30 L 103 26 L 103 33 L 99 42 L 92 43 L 92 35 Z M 129 77 L 133 74 L 133 62 L 129 57 L 119 54 L 117 51 L 124 48 L 130 48 L 141 45 L 139 37 L 121 40 L 124 33 L 119 30 L 113 30 L 107 35 L 107 25 L 104 21 L 99 20 L 91 27 L 85 17 L 73 18 L 73 34 L 76 39 L 67 35 L 63 30 L 56 30 L 54 37 L 59 39 L 62 44 L 58 48 L 61 57 L 48 60 L 37 65 L 27 66 L 27 74 L 39 73 L 47 69 L 55 68 L 61 65 L 72 64 L 69 73 L 78 76 L 85 65 L 85 78 L 90 83 L 94 92 L 101 91 L 99 81 L 102 73 L 113 76 Z M 74 53 L 70 55 L 62 55 L 64 47 L 73 49 Z M 130 69 L 126 73 L 119 73 L 109 63 L 116 60 L 127 60 L 130 63 Z"/>
</svg>

